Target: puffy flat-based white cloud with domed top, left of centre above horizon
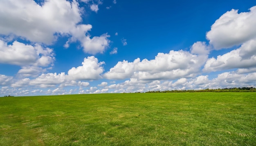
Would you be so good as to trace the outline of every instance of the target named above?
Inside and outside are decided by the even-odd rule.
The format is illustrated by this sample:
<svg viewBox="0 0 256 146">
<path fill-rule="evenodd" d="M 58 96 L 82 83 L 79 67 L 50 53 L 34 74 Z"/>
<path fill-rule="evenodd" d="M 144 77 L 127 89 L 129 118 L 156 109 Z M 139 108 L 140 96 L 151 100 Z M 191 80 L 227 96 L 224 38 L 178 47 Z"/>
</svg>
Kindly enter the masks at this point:
<svg viewBox="0 0 256 146">
<path fill-rule="evenodd" d="M 104 69 L 101 66 L 104 62 L 98 62 L 94 56 L 84 58 L 83 66 L 73 67 L 68 71 L 68 75 L 73 80 L 98 80 L 101 78 L 101 73 Z"/>
</svg>

